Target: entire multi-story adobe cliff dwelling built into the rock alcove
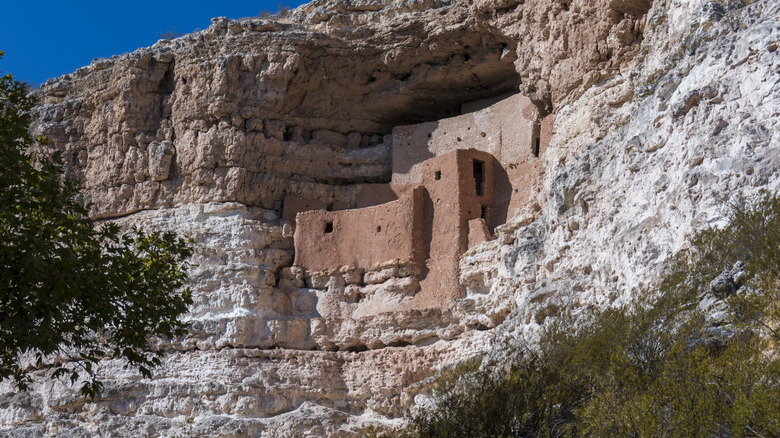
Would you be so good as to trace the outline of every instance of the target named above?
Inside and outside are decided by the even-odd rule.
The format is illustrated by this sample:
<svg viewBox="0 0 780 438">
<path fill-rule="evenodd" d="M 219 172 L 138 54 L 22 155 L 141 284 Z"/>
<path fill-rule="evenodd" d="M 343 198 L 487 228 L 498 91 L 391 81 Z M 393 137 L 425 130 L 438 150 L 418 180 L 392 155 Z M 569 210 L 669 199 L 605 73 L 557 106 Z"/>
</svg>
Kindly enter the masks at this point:
<svg viewBox="0 0 780 438">
<path fill-rule="evenodd" d="M 519 94 L 462 112 L 394 128 L 391 181 L 359 184 L 351 203 L 288 194 L 283 218 L 294 228 L 295 261 L 280 286 L 336 287 L 354 302 L 373 285 L 396 292 L 396 302 L 364 313 L 462 298 L 460 256 L 528 200 L 552 123 Z"/>
</svg>

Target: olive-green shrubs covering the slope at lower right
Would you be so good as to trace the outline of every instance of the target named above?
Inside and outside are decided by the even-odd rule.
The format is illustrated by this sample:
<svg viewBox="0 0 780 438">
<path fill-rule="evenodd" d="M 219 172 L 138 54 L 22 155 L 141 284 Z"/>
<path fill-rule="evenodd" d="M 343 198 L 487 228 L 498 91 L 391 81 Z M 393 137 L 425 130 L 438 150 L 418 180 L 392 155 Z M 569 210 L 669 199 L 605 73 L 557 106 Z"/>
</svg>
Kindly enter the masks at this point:
<svg viewBox="0 0 780 438">
<path fill-rule="evenodd" d="M 437 382 L 420 437 L 780 436 L 780 198 L 734 204 L 659 290 Z M 655 292 L 655 293 L 654 293 Z M 583 321 L 584 320 L 584 321 Z"/>
</svg>

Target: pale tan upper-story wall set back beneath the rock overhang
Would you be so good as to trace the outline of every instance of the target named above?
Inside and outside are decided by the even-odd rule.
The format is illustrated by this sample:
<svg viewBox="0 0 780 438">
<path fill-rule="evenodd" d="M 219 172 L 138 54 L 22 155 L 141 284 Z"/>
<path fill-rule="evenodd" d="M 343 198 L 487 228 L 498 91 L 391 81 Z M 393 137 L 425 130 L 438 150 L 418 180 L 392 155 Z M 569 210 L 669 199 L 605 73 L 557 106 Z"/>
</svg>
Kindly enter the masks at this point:
<svg viewBox="0 0 780 438">
<path fill-rule="evenodd" d="M 393 173 L 396 191 L 423 181 L 425 163 L 455 150 L 475 149 L 494 157 L 492 230 L 506 222 L 531 194 L 541 169 L 539 157 L 549 144 L 552 117 L 542 117 L 521 94 L 463 105 L 464 114 L 393 129 Z"/>
</svg>

